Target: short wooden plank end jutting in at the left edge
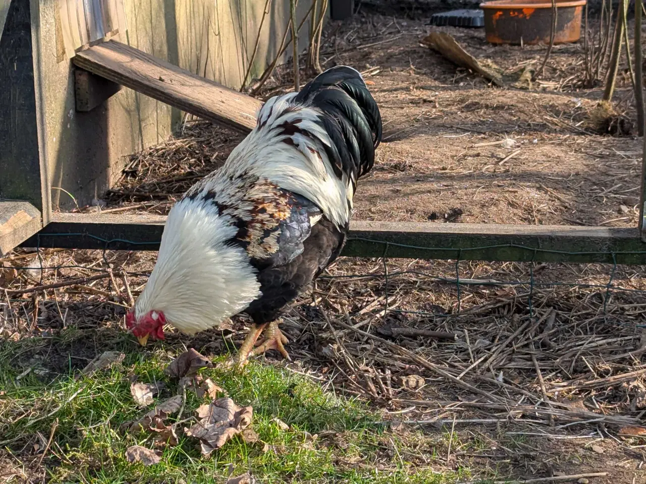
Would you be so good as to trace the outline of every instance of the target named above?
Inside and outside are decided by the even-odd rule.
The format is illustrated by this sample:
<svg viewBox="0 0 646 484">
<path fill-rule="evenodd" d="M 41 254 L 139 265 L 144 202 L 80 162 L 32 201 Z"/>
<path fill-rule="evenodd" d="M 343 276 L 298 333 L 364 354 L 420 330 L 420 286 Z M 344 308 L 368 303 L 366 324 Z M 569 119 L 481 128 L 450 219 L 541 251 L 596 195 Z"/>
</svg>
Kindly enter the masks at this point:
<svg viewBox="0 0 646 484">
<path fill-rule="evenodd" d="M 0 256 L 4 256 L 42 227 L 41 213 L 25 201 L 0 201 Z"/>
</svg>

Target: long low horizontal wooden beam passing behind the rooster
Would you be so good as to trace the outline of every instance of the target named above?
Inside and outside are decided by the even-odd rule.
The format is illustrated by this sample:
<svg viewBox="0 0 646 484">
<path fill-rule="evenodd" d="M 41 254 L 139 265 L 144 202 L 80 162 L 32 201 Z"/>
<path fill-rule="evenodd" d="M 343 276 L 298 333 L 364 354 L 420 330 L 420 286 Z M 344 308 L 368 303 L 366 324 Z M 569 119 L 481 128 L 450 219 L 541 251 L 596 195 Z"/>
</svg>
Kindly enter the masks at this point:
<svg viewBox="0 0 646 484">
<path fill-rule="evenodd" d="M 54 214 L 28 247 L 157 250 L 165 217 Z M 637 228 L 355 221 L 344 256 L 646 264 Z M 614 254 L 614 258 L 613 258 Z"/>
</svg>

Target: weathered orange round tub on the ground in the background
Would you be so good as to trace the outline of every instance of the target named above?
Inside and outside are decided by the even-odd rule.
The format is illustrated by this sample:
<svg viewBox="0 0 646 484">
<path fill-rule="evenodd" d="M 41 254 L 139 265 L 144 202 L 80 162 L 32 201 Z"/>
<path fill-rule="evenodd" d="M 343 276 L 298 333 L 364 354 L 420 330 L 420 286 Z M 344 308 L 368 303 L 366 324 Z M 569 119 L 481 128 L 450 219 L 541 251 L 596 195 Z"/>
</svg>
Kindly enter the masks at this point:
<svg viewBox="0 0 646 484">
<path fill-rule="evenodd" d="M 581 38 L 581 17 L 586 0 L 556 0 L 554 43 Z M 549 43 L 552 29 L 550 0 L 496 0 L 481 3 L 486 39 L 492 44 Z"/>
</svg>

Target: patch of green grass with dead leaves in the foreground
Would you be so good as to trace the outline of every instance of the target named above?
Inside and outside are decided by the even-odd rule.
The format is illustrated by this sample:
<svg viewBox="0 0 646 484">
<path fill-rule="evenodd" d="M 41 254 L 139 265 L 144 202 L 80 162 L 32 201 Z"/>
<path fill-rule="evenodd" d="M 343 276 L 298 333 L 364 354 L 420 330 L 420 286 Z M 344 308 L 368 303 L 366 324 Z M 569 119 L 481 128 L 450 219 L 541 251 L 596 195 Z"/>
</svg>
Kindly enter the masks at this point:
<svg viewBox="0 0 646 484">
<path fill-rule="evenodd" d="M 40 454 L 33 446 L 40 442 L 42 452 L 42 441 L 47 443 L 57 419 L 42 463 L 51 482 L 223 483 L 229 465 L 235 475 L 251 470 L 262 483 L 439 484 L 468 478 L 464 470 L 435 472 L 435 450 L 422 434 L 391 432 L 379 423 L 382 417 L 360 401 L 335 396 L 280 365 L 258 361 L 242 372 L 216 368 L 202 374 L 213 378 L 238 404 L 253 405 L 253 429 L 269 450 L 264 451 L 262 443 L 234 438 L 203 457 L 196 441 L 184 436 L 179 445 L 163 451 L 158 465 L 131 464 L 124 456 L 127 447 L 151 448 L 152 444 L 145 435 L 119 430 L 121 423 L 146 411 L 130 396 L 129 376 L 135 374 L 142 382 L 165 381 L 169 390 L 159 399 L 169 398 L 176 385 L 163 369 L 176 353 L 161 345 L 142 352 L 132 342 L 117 338 L 107 349 L 121 349 L 126 358 L 110 370 L 79 379 L 71 370 L 55 377 L 32 370 L 17 379 L 25 370 L 17 361 L 31 352 L 47 356 L 52 344 L 56 341 L 32 339 L 0 347 L 0 390 L 5 392 L 0 396 L 0 459 L 17 467 L 21 463 L 42 476 L 43 469 L 37 466 Z M 188 392 L 181 419 L 199 404 Z M 290 429 L 281 430 L 275 418 Z M 321 437 L 307 441 L 306 432 Z M 413 444 L 415 452 L 408 449 Z M 415 457 L 419 454 L 431 463 L 421 465 Z"/>
</svg>

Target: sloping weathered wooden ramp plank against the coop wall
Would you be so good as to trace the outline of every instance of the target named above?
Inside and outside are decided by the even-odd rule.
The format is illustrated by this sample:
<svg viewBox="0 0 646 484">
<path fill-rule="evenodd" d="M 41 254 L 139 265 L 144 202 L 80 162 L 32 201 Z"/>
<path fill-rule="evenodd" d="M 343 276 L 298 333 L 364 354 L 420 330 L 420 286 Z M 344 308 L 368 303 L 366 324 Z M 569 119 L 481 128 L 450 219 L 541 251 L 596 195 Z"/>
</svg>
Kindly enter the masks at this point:
<svg viewBox="0 0 646 484">
<path fill-rule="evenodd" d="M 75 65 L 213 123 L 249 132 L 258 99 L 110 40 L 76 54 Z"/>
</svg>

